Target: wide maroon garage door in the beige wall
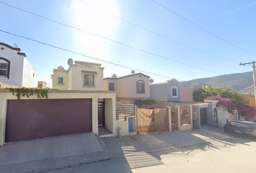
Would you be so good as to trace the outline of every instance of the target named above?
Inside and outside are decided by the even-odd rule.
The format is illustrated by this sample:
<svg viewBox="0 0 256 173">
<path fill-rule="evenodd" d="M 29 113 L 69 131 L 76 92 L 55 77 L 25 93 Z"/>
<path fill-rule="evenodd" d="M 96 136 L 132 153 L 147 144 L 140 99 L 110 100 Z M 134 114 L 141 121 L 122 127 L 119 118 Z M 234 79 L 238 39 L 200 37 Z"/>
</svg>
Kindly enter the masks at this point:
<svg viewBox="0 0 256 173">
<path fill-rule="evenodd" d="M 8 100 L 5 142 L 92 131 L 91 99 Z"/>
</svg>

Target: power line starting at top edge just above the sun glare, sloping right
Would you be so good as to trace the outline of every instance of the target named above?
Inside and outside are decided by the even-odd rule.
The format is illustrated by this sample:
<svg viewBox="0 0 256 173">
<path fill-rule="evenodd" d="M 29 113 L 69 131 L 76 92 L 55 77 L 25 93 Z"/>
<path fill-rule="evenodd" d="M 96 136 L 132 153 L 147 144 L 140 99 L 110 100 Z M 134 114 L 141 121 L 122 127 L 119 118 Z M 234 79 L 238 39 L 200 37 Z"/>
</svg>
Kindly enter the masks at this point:
<svg viewBox="0 0 256 173">
<path fill-rule="evenodd" d="M 88 4 L 88 3 L 84 2 L 84 1 L 81 1 L 81 0 L 79 0 L 79 1 L 82 2 L 82 3 L 84 3 L 84 4 Z M 90 4 L 88 4 L 88 5 L 90 5 Z M 142 29 L 142 30 L 148 31 L 148 32 L 150 32 L 150 33 L 153 33 L 154 35 L 158 35 L 158 36 L 160 36 L 160 37 L 166 38 L 167 40 L 171 40 L 172 42 L 177 43 L 177 44 L 179 44 L 179 45 L 183 45 L 183 46 L 185 46 L 185 47 L 187 47 L 187 48 L 191 48 L 192 50 L 197 50 L 197 51 L 200 52 L 200 53 L 205 53 L 205 54 L 208 55 L 208 56 L 213 56 L 213 57 L 215 57 L 215 58 L 219 58 L 219 59 L 222 59 L 222 60 L 224 60 L 224 61 L 229 61 L 229 62 L 231 62 L 231 63 L 237 63 L 237 62 L 234 62 L 234 61 L 230 61 L 230 60 L 228 60 L 228 59 L 225 59 L 225 58 L 221 58 L 221 57 L 219 57 L 219 56 L 214 56 L 213 54 L 207 53 L 207 52 L 202 51 L 202 50 L 199 50 L 199 49 L 197 49 L 197 48 L 193 48 L 193 47 L 191 47 L 191 46 L 189 46 L 189 45 L 185 45 L 184 43 L 180 43 L 180 42 L 178 42 L 178 41 L 176 41 L 176 40 L 173 40 L 173 39 L 171 39 L 171 38 L 169 38 L 169 37 L 166 37 L 166 36 L 164 36 L 164 35 L 158 34 L 157 32 L 153 32 L 152 30 L 148 30 L 148 29 L 145 28 L 145 27 L 140 27 L 139 25 L 136 25 L 136 24 L 134 24 L 134 23 L 132 23 L 132 22 L 129 22 L 129 21 L 125 20 L 125 19 L 121 19 L 120 17 L 117 17 L 117 16 L 115 16 L 115 15 L 113 15 L 113 14 L 110 14 L 110 13 L 107 13 L 107 14 L 110 15 L 110 16 L 112 16 L 112 17 L 115 17 L 116 19 L 120 19 L 120 20 L 122 20 L 122 21 L 124 21 L 124 22 L 127 22 L 127 23 L 129 23 L 130 25 L 133 25 L 133 26 L 135 26 L 135 27 L 139 27 L 139 28 Z"/>
</svg>

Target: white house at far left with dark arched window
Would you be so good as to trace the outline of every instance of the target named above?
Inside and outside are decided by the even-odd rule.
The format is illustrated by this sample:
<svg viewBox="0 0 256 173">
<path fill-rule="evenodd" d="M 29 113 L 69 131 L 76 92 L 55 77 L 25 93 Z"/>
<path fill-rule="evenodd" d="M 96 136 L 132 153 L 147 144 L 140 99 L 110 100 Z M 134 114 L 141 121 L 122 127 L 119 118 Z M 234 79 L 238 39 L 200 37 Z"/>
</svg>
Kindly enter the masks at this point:
<svg viewBox="0 0 256 173">
<path fill-rule="evenodd" d="M 13 48 L 0 43 L 0 82 L 14 86 L 38 86 L 38 73 L 17 45 Z"/>
</svg>

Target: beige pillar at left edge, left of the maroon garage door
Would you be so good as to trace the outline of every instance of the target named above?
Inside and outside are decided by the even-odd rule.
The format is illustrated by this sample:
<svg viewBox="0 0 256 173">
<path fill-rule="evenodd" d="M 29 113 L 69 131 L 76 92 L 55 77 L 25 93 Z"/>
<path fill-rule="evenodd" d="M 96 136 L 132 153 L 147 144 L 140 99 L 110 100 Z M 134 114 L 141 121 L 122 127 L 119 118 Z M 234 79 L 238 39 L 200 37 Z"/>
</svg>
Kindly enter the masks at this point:
<svg viewBox="0 0 256 173">
<path fill-rule="evenodd" d="M 4 146 L 6 122 L 7 122 L 7 99 L 0 99 L 0 146 Z"/>
</svg>

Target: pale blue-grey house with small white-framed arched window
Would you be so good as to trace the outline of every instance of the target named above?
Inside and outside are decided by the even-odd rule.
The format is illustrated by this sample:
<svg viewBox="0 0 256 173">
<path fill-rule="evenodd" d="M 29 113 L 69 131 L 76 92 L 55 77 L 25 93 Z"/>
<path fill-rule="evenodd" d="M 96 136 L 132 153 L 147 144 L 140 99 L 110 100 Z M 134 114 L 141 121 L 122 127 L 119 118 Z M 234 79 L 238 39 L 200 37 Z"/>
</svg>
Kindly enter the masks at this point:
<svg viewBox="0 0 256 173">
<path fill-rule="evenodd" d="M 161 84 L 150 84 L 150 99 L 164 102 L 181 101 L 181 84 L 176 79 Z"/>
</svg>

